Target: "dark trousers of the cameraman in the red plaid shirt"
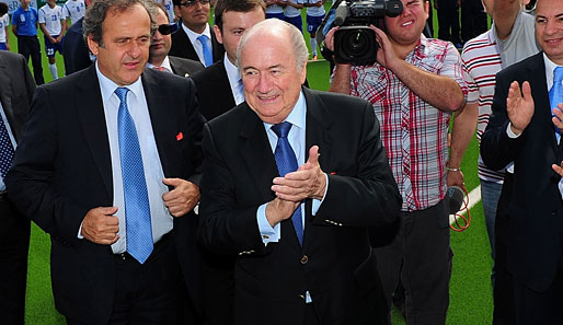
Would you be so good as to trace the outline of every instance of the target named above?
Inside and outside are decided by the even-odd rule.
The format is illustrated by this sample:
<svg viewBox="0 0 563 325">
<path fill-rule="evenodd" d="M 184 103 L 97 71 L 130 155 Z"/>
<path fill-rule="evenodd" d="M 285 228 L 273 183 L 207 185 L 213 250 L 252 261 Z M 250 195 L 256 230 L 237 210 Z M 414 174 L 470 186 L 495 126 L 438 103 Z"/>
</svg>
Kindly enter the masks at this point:
<svg viewBox="0 0 563 325">
<path fill-rule="evenodd" d="M 422 211 L 401 212 L 402 224 L 393 242 L 376 248 L 389 305 L 401 278 L 409 325 L 446 323 L 451 271 L 447 206 L 443 200 Z"/>
</svg>

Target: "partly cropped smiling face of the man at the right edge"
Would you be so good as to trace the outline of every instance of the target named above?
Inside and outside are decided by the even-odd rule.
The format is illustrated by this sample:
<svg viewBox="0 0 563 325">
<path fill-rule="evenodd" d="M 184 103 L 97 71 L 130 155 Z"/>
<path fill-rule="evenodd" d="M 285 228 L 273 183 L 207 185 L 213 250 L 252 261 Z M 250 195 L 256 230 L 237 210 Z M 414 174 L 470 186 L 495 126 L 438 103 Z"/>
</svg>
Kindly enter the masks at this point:
<svg viewBox="0 0 563 325">
<path fill-rule="evenodd" d="M 563 66 L 563 1 L 538 1 L 536 39 L 550 60 Z"/>
</svg>

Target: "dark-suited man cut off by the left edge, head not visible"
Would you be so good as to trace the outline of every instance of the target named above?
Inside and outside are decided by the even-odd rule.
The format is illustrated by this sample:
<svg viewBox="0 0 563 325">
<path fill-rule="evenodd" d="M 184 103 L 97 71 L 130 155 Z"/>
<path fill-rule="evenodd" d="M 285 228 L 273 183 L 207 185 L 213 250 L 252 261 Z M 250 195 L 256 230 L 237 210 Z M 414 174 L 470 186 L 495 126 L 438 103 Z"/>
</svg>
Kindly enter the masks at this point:
<svg viewBox="0 0 563 325">
<path fill-rule="evenodd" d="M 30 220 L 8 199 L 4 176 L 32 102 L 35 82 L 21 55 L 0 51 L 0 315 L 2 323 L 24 323 Z"/>
</svg>

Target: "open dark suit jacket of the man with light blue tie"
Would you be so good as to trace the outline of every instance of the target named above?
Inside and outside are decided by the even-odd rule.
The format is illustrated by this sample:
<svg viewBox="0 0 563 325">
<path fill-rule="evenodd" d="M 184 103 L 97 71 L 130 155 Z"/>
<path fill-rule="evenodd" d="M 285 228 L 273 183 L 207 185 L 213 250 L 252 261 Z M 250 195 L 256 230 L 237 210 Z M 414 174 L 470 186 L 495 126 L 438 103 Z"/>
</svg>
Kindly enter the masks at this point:
<svg viewBox="0 0 563 325">
<path fill-rule="evenodd" d="M 193 82 L 147 69 L 142 85 L 165 177 L 199 183 L 203 118 Z M 115 291 L 107 245 L 78 239 L 87 212 L 113 204 L 112 165 L 95 67 L 41 86 L 7 177 L 9 194 L 51 237 L 51 282 L 59 312 L 105 324 Z M 183 137 L 179 139 L 177 135 Z M 188 292 L 198 303 L 197 219 L 174 218 Z"/>
</svg>

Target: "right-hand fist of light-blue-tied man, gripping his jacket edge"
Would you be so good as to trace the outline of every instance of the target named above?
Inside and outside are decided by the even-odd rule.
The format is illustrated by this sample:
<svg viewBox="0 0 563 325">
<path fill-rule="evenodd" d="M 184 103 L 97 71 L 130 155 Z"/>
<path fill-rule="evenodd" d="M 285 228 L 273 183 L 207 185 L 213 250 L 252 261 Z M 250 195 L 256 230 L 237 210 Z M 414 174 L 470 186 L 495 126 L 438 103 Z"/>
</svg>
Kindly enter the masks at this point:
<svg viewBox="0 0 563 325">
<path fill-rule="evenodd" d="M 174 189 L 162 195 L 170 214 L 182 217 L 199 201 L 199 187 L 194 183 L 182 178 L 162 178 L 162 183 L 174 186 Z"/>
</svg>

